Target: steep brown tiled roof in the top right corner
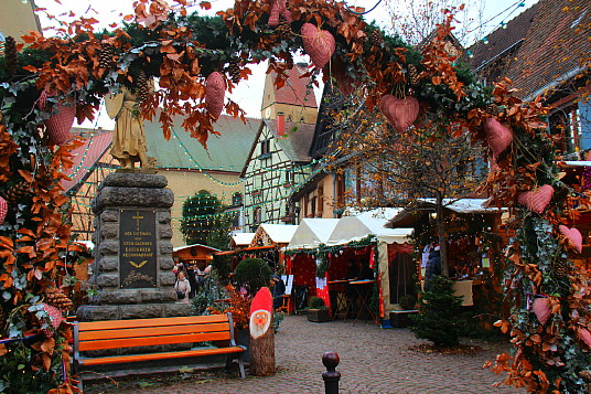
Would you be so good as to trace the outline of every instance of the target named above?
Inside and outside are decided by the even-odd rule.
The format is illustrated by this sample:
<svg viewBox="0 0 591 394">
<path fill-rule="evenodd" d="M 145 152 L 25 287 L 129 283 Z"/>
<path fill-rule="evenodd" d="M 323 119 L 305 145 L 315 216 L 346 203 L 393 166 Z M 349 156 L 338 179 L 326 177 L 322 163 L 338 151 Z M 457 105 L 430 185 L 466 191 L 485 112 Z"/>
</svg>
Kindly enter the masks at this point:
<svg viewBox="0 0 591 394">
<path fill-rule="evenodd" d="M 526 40 L 509 65 L 508 76 L 520 97 L 539 95 L 551 83 L 580 70 L 591 52 L 589 0 L 540 0 Z"/>
</svg>

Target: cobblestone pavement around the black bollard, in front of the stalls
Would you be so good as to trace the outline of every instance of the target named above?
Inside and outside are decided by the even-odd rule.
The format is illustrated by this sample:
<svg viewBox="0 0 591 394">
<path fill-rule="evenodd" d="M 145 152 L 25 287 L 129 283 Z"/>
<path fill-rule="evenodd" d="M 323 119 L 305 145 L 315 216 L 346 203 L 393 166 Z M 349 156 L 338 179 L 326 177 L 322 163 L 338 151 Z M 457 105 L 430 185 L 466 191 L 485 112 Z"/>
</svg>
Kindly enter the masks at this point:
<svg viewBox="0 0 591 394">
<path fill-rule="evenodd" d="M 170 379 L 163 385 L 143 384 L 135 388 L 103 385 L 90 393 L 324 393 L 322 354 L 336 351 L 341 358 L 341 393 L 524 393 L 513 387 L 492 387 L 498 381 L 491 370 L 482 369 L 503 345 L 465 340 L 482 352 L 466 354 L 427 354 L 409 349 L 422 343 L 406 329 L 382 329 L 358 321 L 309 322 L 305 316 L 289 316 L 276 336 L 278 373 L 272 376 L 211 374 L 208 379 Z M 248 372 L 247 372 L 248 373 Z M 129 385 L 127 385 L 129 386 Z"/>
</svg>

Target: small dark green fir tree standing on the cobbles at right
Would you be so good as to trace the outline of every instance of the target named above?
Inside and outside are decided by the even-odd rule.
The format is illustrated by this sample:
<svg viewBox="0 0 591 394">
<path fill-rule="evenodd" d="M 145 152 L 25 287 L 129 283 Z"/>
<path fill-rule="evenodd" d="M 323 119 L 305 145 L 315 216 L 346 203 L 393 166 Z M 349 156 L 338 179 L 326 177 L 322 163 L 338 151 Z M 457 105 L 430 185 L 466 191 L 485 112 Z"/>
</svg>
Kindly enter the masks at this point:
<svg viewBox="0 0 591 394">
<path fill-rule="evenodd" d="M 451 347 L 459 343 L 465 332 L 462 315 L 462 297 L 454 296 L 453 281 L 436 276 L 429 290 L 422 292 L 420 313 L 412 316 L 410 330 L 417 338 L 427 339 L 437 347 Z"/>
</svg>

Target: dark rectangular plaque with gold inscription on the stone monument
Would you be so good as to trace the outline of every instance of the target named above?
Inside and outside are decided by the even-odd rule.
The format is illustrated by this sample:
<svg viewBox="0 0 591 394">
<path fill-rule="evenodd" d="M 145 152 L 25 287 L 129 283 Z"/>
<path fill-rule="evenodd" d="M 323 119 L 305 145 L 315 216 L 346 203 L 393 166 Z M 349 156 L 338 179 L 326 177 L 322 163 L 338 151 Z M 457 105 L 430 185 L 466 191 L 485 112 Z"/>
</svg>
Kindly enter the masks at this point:
<svg viewBox="0 0 591 394">
<path fill-rule="evenodd" d="M 155 212 L 120 210 L 119 268 L 122 288 L 157 284 Z"/>
</svg>

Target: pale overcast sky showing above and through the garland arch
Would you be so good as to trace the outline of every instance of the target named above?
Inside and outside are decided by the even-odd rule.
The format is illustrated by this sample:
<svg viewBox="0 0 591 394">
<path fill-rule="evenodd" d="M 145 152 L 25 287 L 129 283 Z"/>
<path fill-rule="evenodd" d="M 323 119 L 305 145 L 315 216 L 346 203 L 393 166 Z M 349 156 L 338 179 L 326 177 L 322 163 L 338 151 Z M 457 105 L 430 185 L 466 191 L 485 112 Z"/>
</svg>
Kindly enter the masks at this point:
<svg viewBox="0 0 591 394">
<path fill-rule="evenodd" d="M 58 15 L 61 13 L 68 13 L 73 11 L 77 17 L 93 17 L 100 21 L 100 28 L 107 28 L 110 23 L 120 23 L 121 15 L 132 13 L 133 0 L 60 0 L 62 4 L 58 4 L 55 0 L 35 0 L 35 4 L 41 8 L 46 8 L 51 14 Z M 391 1 L 388 7 L 388 1 Z M 388 29 L 390 23 L 390 17 L 388 9 L 396 7 L 397 12 L 405 12 L 406 4 L 412 0 L 350 0 L 347 4 L 350 7 L 364 7 L 366 10 L 370 10 L 377 4 L 375 10 L 368 12 L 365 18 L 367 21 L 376 20 L 376 22 L 384 29 Z M 415 0 L 418 1 L 418 0 Z M 427 0 L 429 1 L 429 0 Z M 495 30 L 502 22 L 507 22 L 515 18 L 518 13 L 525 9 L 531 7 L 537 0 L 526 1 L 513 1 L 513 0 L 466 0 L 466 3 L 472 4 L 470 8 L 474 10 L 472 14 L 468 15 L 464 21 L 460 21 L 462 24 L 460 28 L 472 31 L 469 35 L 470 41 L 480 40 L 487 32 Z M 169 1 L 173 3 L 172 1 Z M 191 11 L 198 11 L 202 14 L 215 14 L 218 10 L 226 10 L 233 7 L 232 0 L 209 0 L 212 3 L 212 10 L 205 12 L 198 7 L 194 7 Z M 523 3 L 524 7 L 518 7 Z M 64 20 L 66 18 L 62 17 Z M 44 18 L 43 13 L 40 14 L 41 24 L 43 28 L 51 25 L 51 22 Z M 45 33 L 47 34 L 47 33 Z M 307 58 L 304 58 L 307 60 Z M 236 100 L 240 107 L 251 117 L 260 117 L 260 104 L 262 99 L 262 85 L 265 79 L 266 65 L 252 66 L 252 76 L 248 81 L 241 81 L 238 88 L 234 90 L 232 98 Z M 316 95 L 320 94 L 319 92 Z M 95 123 L 104 128 L 111 128 L 112 123 L 109 121 L 104 115 L 100 116 L 100 120 Z M 95 125 L 85 124 L 85 127 L 93 127 Z"/>
</svg>

